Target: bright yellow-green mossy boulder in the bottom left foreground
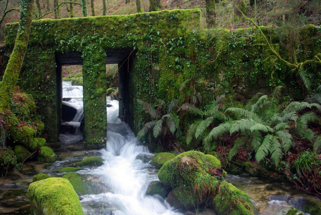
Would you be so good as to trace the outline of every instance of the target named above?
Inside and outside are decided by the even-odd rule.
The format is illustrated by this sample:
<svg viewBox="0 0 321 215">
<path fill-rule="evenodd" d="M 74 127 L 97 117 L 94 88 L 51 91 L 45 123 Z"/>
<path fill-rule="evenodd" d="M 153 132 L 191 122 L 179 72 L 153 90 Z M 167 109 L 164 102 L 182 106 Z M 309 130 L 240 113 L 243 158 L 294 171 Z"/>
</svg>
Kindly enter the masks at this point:
<svg viewBox="0 0 321 215">
<path fill-rule="evenodd" d="M 30 214 L 84 215 L 79 197 L 65 178 L 52 177 L 29 185 Z"/>
</svg>

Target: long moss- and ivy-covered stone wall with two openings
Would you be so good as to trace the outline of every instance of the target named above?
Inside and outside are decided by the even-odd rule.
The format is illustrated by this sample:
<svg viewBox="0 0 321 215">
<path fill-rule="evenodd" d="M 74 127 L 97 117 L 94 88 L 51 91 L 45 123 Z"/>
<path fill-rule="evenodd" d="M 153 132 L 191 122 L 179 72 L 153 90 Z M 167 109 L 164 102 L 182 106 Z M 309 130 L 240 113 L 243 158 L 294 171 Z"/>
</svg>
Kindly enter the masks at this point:
<svg viewBox="0 0 321 215">
<path fill-rule="evenodd" d="M 292 68 L 269 57 L 271 53 L 256 29 L 202 29 L 200 19 L 200 10 L 194 9 L 32 22 L 29 49 L 19 84 L 22 83 L 22 91 L 39 96 L 36 101 L 44 110 L 39 114 L 48 121 L 46 124 L 44 120 L 48 138 L 58 137 L 57 130 L 51 129 L 59 126 L 55 85 L 60 80 L 55 80 L 55 77 L 59 79 L 55 74 L 55 52 L 82 53 L 85 114 L 92 116 L 85 122 L 86 136 L 91 137 L 91 140 L 87 138 L 86 144 L 92 148 L 99 148 L 97 141 L 103 139 L 106 130 L 101 102 L 105 76 L 99 74 L 104 67 L 103 50 L 133 50 L 130 58 L 126 59 L 131 60 L 130 63 L 119 62 L 127 65 L 126 71 L 123 68 L 119 74 L 128 76 L 122 80 L 129 85 L 123 91 L 128 95 L 124 96 L 127 101 L 123 101 L 125 105 L 121 106 L 121 112 L 125 109 L 130 111 L 131 120 L 128 122 L 135 131 L 145 120 L 137 99 L 156 104 L 157 99 L 185 98 L 187 92 L 179 91 L 179 87 L 189 79 L 204 78 L 208 81 L 207 85 L 197 86 L 204 103 L 223 93 L 244 100 L 259 91 L 266 93 L 274 85 L 284 85 L 286 95 L 295 99 L 305 97 L 300 77 L 291 72 Z M 14 45 L 16 29 L 17 23 L 5 27 L 5 44 L 9 49 Z M 293 60 L 289 54 L 291 50 L 273 28 L 261 29 L 273 44 L 280 43 L 282 58 Z M 320 28 L 308 25 L 298 31 L 301 41 L 296 48 L 298 61 L 312 59 L 321 52 Z M 304 69 L 314 80 L 312 87 L 320 84 L 318 64 L 311 63 Z M 37 77 L 31 76 L 32 72 Z M 53 120 L 48 120 L 48 116 Z M 97 133 L 87 133 L 91 129 Z"/>
</svg>

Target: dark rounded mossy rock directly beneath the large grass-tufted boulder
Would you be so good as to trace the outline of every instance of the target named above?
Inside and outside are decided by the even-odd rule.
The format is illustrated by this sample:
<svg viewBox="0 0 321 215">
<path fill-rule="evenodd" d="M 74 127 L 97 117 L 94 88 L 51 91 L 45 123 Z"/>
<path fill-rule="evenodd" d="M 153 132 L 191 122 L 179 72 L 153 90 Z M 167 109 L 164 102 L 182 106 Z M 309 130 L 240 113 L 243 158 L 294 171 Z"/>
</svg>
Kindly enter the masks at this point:
<svg viewBox="0 0 321 215">
<path fill-rule="evenodd" d="M 198 196 L 192 191 L 177 187 L 169 192 L 166 202 L 175 208 L 197 208 L 199 205 Z"/>
</svg>

